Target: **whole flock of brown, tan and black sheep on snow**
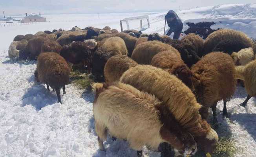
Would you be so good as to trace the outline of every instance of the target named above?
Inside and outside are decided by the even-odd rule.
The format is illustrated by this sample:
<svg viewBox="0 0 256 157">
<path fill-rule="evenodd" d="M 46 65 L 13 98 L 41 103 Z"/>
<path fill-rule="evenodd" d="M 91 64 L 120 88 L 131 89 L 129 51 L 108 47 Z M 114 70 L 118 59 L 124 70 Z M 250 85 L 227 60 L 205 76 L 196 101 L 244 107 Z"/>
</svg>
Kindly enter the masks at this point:
<svg viewBox="0 0 256 157">
<path fill-rule="evenodd" d="M 110 133 L 128 141 L 139 157 L 143 146 L 157 150 L 161 143 L 175 148 L 176 156 L 194 155 L 200 147 L 210 157 L 218 134 L 206 121 L 208 109 L 216 123 L 216 105 L 223 100 L 227 116 L 237 79 L 248 93 L 241 106 L 256 96 L 255 54 L 256 42 L 231 29 L 206 40 L 195 34 L 172 40 L 108 26 L 73 27 L 18 35 L 9 47 L 10 58 L 37 60 L 35 80 L 56 90 L 60 103 L 73 64 L 104 82 L 93 84 L 100 149 Z"/>
</svg>

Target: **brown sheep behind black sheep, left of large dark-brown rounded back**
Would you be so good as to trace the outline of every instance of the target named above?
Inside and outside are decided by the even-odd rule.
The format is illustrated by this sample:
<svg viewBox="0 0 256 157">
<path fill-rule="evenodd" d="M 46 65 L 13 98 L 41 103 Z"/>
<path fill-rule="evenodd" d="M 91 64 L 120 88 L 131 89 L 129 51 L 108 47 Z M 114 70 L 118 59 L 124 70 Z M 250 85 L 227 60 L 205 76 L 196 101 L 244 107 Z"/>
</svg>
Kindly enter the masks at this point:
<svg viewBox="0 0 256 157">
<path fill-rule="evenodd" d="M 199 37 L 199 35 L 196 35 L 194 33 L 189 33 L 188 35 L 186 35 L 185 37 L 183 37 L 181 39 L 181 41 L 183 40 L 189 40 L 190 42 L 192 42 L 194 44 L 194 46 L 196 47 L 196 53 L 199 57 L 203 56 L 203 39 L 201 37 Z"/>
</svg>

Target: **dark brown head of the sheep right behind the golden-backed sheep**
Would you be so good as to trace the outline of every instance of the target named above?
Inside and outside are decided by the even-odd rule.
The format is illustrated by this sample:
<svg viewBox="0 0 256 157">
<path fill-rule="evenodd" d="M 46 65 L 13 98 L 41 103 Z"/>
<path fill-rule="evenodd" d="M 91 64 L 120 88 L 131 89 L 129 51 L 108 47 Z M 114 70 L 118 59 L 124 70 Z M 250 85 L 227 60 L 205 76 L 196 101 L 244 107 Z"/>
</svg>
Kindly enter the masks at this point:
<svg viewBox="0 0 256 157">
<path fill-rule="evenodd" d="M 174 71 L 174 74 L 182 80 L 183 83 L 185 83 L 188 88 L 191 89 L 191 91 L 194 91 L 194 84 L 192 81 L 192 71 L 186 66 L 182 65 L 179 68 L 176 68 L 176 71 Z"/>
</svg>

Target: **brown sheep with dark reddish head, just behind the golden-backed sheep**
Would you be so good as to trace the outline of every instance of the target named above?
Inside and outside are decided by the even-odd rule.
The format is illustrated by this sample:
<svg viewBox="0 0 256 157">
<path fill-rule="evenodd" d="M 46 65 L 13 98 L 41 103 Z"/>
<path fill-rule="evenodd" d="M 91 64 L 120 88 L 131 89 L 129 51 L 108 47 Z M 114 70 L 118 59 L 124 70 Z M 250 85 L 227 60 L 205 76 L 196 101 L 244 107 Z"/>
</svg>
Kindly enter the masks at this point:
<svg viewBox="0 0 256 157">
<path fill-rule="evenodd" d="M 181 59 L 181 55 L 176 51 L 163 51 L 152 58 L 151 65 L 164 69 L 168 73 L 176 75 L 188 88 L 194 91 L 192 82 L 192 71 Z"/>
</svg>

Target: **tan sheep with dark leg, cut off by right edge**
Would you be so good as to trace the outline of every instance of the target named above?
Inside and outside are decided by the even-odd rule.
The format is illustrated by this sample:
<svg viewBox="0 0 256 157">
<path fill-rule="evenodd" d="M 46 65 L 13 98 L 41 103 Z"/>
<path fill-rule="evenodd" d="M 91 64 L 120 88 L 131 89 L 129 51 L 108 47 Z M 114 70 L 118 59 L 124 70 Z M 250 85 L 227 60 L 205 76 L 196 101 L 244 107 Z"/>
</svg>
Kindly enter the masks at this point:
<svg viewBox="0 0 256 157">
<path fill-rule="evenodd" d="M 256 77 L 256 60 L 252 60 L 245 66 L 236 67 L 236 79 L 240 79 L 245 82 L 245 90 L 248 94 L 245 101 L 240 104 L 241 106 L 246 106 L 249 99 L 251 99 L 251 97 L 256 96 L 255 77 Z"/>
</svg>

